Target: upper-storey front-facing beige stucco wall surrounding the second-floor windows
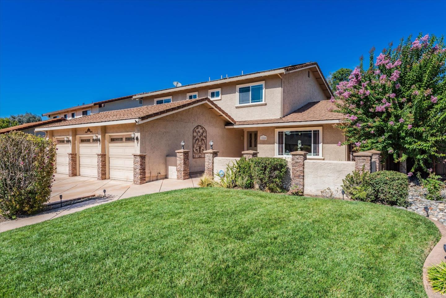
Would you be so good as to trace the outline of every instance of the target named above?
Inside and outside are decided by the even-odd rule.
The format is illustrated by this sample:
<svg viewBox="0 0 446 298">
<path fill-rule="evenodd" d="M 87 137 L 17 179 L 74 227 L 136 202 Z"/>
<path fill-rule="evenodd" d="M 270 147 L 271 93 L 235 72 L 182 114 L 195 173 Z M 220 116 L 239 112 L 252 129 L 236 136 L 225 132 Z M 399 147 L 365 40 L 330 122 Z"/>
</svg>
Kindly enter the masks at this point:
<svg viewBox="0 0 446 298">
<path fill-rule="evenodd" d="M 265 82 L 265 103 L 266 105 L 256 105 L 251 107 L 236 108 L 238 103 L 236 96 L 236 86 L 255 82 Z M 265 76 L 249 80 L 240 80 L 231 83 L 222 83 L 206 88 L 193 88 L 180 92 L 166 92 L 161 95 L 147 96 L 143 98 L 144 105 L 153 105 L 156 98 L 172 97 L 172 101 L 184 101 L 187 98 L 187 93 L 198 92 L 198 97 L 207 97 L 209 90 L 221 88 L 221 100 L 216 100 L 215 103 L 219 105 L 225 112 L 231 115 L 235 120 L 256 120 L 256 119 L 271 119 L 281 117 L 281 97 L 282 97 L 282 82 L 277 75 Z"/>
</svg>

